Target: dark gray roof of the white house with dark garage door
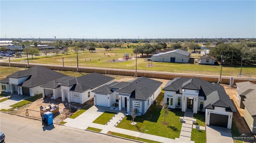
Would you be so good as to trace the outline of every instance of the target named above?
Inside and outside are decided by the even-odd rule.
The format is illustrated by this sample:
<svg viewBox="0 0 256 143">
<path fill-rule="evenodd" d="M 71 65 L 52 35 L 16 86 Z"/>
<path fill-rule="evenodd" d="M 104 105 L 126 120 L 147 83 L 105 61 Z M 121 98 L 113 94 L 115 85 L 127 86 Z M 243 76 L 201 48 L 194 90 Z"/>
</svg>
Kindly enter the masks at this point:
<svg viewBox="0 0 256 143">
<path fill-rule="evenodd" d="M 231 112 L 236 111 L 223 86 L 207 82 L 201 78 L 174 78 L 167 82 L 163 88 L 163 90 L 175 91 L 178 94 L 182 94 L 182 89 L 199 90 L 198 96 L 203 96 L 206 99 L 205 108 L 213 109 L 214 106 L 219 106 Z"/>
</svg>

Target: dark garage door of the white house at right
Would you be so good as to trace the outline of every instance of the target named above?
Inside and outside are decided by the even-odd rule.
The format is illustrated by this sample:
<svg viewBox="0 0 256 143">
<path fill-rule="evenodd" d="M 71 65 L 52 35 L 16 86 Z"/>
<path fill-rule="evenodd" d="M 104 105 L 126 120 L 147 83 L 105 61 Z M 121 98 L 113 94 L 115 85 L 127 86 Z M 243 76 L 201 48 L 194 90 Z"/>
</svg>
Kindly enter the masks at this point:
<svg viewBox="0 0 256 143">
<path fill-rule="evenodd" d="M 228 127 L 228 116 L 221 114 L 210 114 L 210 125 L 218 127 Z"/>
</svg>

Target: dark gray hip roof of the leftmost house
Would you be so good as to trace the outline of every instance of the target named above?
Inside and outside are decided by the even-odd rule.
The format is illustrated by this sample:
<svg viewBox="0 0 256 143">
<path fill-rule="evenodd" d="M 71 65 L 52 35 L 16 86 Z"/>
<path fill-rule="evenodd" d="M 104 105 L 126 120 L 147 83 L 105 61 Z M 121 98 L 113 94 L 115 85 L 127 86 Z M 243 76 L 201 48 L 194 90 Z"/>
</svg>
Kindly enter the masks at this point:
<svg viewBox="0 0 256 143">
<path fill-rule="evenodd" d="M 21 78 L 28 76 L 28 78 L 20 84 L 22 87 L 35 87 L 46 84 L 52 80 L 56 80 L 67 75 L 52 71 L 42 66 L 34 66 L 28 70 L 18 71 L 7 76 L 8 78 Z"/>
</svg>

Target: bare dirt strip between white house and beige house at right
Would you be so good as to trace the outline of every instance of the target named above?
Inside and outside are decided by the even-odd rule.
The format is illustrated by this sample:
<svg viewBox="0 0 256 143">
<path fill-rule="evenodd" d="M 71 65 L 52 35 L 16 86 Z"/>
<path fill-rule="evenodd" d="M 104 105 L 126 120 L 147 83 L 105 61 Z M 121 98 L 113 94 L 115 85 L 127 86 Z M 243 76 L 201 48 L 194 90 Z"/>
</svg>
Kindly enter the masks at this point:
<svg viewBox="0 0 256 143">
<path fill-rule="evenodd" d="M 237 103 L 237 95 L 236 95 L 236 86 L 230 87 L 227 84 L 220 84 L 224 87 L 226 93 L 232 100 L 233 104 L 235 105 L 236 111 L 233 113 L 233 119 L 235 121 L 236 127 L 239 129 L 240 135 L 242 133 L 248 135 L 248 136 L 254 136 L 256 139 L 256 135 L 250 133 L 250 129 L 244 119 L 244 109 L 240 108 Z"/>
</svg>

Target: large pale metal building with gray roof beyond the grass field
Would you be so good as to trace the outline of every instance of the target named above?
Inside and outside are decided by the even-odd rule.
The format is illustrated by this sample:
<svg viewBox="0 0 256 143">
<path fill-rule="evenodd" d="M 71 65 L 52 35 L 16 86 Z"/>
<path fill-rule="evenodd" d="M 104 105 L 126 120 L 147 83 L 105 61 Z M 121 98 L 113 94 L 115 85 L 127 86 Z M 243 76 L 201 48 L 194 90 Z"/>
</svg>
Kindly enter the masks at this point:
<svg viewBox="0 0 256 143">
<path fill-rule="evenodd" d="M 168 51 L 165 53 L 158 53 L 151 56 L 154 62 L 169 62 L 169 63 L 188 63 L 190 53 L 180 49 Z"/>
</svg>

